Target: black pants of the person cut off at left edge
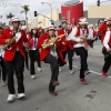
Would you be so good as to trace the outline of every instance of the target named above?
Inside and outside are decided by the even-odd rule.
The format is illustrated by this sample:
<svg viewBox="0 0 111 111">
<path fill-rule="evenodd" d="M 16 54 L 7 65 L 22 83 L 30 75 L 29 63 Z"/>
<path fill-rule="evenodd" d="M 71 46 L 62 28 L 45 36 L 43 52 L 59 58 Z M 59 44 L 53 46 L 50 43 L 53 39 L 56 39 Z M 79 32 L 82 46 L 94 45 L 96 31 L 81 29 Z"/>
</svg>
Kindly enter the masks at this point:
<svg viewBox="0 0 111 111">
<path fill-rule="evenodd" d="M 0 57 L 0 78 L 1 78 L 1 73 L 2 73 L 2 80 L 6 81 L 7 80 L 7 70 L 4 68 L 4 62 L 3 62 L 3 58 Z"/>
</svg>

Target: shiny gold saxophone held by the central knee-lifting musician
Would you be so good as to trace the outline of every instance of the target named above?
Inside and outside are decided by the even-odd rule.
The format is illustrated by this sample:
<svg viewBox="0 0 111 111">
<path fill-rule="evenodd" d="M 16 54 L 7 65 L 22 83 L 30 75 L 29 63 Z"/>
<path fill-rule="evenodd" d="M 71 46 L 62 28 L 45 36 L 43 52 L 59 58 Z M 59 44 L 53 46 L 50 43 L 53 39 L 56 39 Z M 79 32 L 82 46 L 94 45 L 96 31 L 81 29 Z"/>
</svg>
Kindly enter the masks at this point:
<svg viewBox="0 0 111 111">
<path fill-rule="evenodd" d="M 49 47 L 54 46 L 56 41 L 57 41 L 58 39 L 62 38 L 63 36 L 64 36 L 64 34 L 58 36 L 58 37 L 56 37 L 56 38 L 51 38 L 48 42 L 44 42 L 44 43 L 42 44 L 42 49 L 46 49 L 46 48 L 49 48 Z"/>
</svg>

